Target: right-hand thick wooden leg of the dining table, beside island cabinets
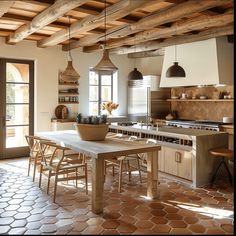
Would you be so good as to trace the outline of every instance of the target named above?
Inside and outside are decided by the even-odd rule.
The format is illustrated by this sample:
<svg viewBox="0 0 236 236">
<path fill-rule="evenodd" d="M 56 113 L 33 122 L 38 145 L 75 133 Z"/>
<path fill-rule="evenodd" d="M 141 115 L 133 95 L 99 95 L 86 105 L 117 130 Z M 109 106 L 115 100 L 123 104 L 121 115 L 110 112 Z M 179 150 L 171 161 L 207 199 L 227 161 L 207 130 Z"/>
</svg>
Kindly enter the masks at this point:
<svg viewBox="0 0 236 236">
<path fill-rule="evenodd" d="M 157 198 L 158 152 L 147 153 L 147 196 Z"/>
</svg>

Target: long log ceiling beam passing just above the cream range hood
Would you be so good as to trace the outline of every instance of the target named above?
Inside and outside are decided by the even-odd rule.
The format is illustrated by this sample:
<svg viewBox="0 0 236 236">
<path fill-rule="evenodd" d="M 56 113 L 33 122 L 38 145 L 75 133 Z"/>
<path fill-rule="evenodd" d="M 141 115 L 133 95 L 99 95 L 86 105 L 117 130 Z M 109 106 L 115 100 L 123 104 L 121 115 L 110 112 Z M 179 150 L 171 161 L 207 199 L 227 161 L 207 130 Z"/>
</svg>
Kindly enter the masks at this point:
<svg viewBox="0 0 236 236">
<path fill-rule="evenodd" d="M 128 54 L 128 53 L 136 53 L 136 52 L 145 52 L 150 50 L 156 50 L 163 47 L 168 47 L 172 45 L 184 44 L 184 43 L 192 43 L 196 41 L 202 41 L 210 38 L 216 38 L 225 35 L 232 35 L 234 33 L 234 25 L 229 24 L 227 26 L 213 28 L 201 31 L 198 34 L 192 35 L 184 35 L 184 36 L 177 36 L 169 39 L 155 40 L 149 41 L 146 43 L 138 44 L 135 47 L 120 47 L 115 49 L 110 49 L 110 54 Z"/>
</svg>

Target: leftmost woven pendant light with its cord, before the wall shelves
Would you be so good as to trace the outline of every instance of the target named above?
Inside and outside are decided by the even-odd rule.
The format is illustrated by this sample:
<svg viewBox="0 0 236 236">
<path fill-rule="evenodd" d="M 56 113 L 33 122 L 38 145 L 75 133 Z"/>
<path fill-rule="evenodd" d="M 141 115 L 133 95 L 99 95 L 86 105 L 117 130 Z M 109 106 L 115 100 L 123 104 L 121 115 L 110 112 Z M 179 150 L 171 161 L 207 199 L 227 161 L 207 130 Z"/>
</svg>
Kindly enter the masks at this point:
<svg viewBox="0 0 236 236">
<path fill-rule="evenodd" d="M 72 56 L 70 51 L 70 16 L 68 17 L 69 17 L 69 59 L 65 71 L 61 73 L 61 80 L 68 83 L 72 82 L 76 83 L 80 75 L 76 72 L 72 64 Z"/>
</svg>

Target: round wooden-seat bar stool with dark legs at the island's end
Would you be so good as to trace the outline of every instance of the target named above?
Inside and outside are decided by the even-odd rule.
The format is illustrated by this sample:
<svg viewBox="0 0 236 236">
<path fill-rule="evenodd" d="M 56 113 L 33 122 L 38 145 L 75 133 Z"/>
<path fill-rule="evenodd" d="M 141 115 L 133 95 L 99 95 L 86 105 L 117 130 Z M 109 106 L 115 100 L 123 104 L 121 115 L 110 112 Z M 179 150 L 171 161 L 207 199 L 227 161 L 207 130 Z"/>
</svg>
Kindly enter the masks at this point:
<svg viewBox="0 0 236 236">
<path fill-rule="evenodd" d="M 228 165 L 225 163 L 225 158 L 229 159 L 229 160 L 232 160 L 233 157 L 234 157 L 234 152 L 230 149 L 227 149 L 227 148 L 215 148 L 215 149 L 211 149 L 210 150 L 210 153 L 214 156 L 214 157 L 220 157 L 221 158 L 221 161 L 218 165 L 218 167 L 216 168 L 213 176 L 212 176 L 212 179 L 211 179 L 211 185 L 214 184 L 214 181 L 215 181 L 215 178 L 217 176 L 217 173 L 220 169 L 220 167 L 223 165 L 226 169 L 226 172 L 228 174 L 228 178 L 229 178 L 229 181 L 230 181 L 230 184 L 232 185 L 232 175 L 229 171 L 229 168 L 228 168 Z"/>
</svg>

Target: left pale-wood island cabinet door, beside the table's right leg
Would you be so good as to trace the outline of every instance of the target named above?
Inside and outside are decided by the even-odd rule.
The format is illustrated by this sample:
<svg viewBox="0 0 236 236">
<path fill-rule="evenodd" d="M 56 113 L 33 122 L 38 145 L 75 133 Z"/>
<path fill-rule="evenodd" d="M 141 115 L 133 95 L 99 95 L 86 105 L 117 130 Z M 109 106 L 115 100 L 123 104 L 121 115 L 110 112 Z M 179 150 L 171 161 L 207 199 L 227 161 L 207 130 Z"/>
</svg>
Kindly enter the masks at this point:
<svg viewBox="0 0 236 236">
<path fill-rule="evenodd" d="M 162 147 L 164 149 L 165 172 L 172 175 L 178 175 L 178 163 L 175 160 L 176 149 Z"/>
</svg>

